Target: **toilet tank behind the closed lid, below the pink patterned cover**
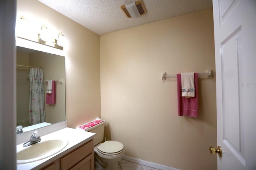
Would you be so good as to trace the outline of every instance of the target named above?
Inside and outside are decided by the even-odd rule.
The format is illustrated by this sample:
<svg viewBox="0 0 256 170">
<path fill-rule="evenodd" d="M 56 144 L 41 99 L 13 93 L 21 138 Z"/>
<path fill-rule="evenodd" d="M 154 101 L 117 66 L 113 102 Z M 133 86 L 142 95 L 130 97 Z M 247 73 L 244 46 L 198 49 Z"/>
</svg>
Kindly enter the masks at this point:
<svg viewBox="0 0 256 170">
<path fill-rule="evenodd" d="M 94 137 L 93 139 L 93 146 L 96 146 L 97 144 L 103 141 L 104 127 L 105 127 L 105 121 L 99 123 L 98 125 L 95 125 L 93 127 L 86 129 L 87 132 L 96 133 L 96 137 Z"/>
</svg>

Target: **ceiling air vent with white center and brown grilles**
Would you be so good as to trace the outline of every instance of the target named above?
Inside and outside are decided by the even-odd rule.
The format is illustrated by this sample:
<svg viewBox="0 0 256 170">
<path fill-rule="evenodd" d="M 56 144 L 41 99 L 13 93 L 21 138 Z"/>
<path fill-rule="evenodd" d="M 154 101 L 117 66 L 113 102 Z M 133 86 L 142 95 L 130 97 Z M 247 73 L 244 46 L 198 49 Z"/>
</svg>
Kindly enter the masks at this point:
<svg viewBox="0 0 256 170">
<path fill-rule="evenodd" d="M 120 6 L 128 18 L 137 18 L 147 12 L 142 0 Z"/>
</svg>

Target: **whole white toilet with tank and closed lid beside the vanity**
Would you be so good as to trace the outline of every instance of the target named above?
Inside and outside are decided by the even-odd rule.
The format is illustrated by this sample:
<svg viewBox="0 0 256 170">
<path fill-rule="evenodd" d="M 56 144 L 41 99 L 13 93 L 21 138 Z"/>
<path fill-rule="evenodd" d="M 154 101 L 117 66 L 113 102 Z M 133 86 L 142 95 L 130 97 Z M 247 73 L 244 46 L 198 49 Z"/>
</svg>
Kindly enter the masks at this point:
<svg viewBox="0 0 256 170">
<path fill-rule="evenodd" d="M 117 170 L 118 161 L 124 155 L 124 145 L 118 141 L 103 141 L 105 121 L 88 128 L 86 131 L 96 133 L 94 137 L 94 153 L 106 165 L 106 170 Z"/>
</svg>

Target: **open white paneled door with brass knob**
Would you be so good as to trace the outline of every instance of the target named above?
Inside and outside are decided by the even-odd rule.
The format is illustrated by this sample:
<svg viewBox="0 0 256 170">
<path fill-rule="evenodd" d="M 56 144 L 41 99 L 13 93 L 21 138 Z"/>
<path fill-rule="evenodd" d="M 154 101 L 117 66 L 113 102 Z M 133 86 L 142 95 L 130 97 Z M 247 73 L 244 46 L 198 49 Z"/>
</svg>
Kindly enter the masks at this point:
<svg viewBox="0 0 256 170">
<path fill-rule="evenodd" d="M 255 170 L 256 0 L 213 0 L 213 11 L 218 170 Z"/>
</svg>

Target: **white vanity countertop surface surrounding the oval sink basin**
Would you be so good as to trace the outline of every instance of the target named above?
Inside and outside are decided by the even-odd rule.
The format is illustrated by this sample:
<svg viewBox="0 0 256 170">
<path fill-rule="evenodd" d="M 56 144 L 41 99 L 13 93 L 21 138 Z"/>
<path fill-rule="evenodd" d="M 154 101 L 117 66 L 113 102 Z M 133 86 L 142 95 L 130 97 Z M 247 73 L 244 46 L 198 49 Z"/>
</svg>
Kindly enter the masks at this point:
<svg viewBox="0 0 256 170">
<path fill-rule="evenodd" d="M 52 161 L 62 157 L 64 154 L 67 154 L 68 152 L 76 149 L 77 147 L 87 143 L 88 141 L 93 139 L 95 135 L 96 135 L 95 133 L 79 131 L 76 129 L 66 127 L 59 131 L 49 133 L 48 135 L 41 136 L 42 141 L 44 141 L 44 139 L 49 139 L 49 138 L 67 139 L 68 145 L 60 152 L 58 152 L 52 156 L 49 156 L 47 158 L 44 158 L 42 160 L 38 160 L 35 162 L 26 163 L 26 164 L 17 164 L 17 170 L 40 169 L 40 168 L 46 166 L 47 164 L 51 163 Z"/>
</svg>

